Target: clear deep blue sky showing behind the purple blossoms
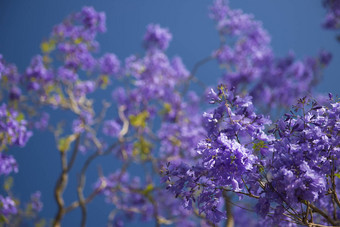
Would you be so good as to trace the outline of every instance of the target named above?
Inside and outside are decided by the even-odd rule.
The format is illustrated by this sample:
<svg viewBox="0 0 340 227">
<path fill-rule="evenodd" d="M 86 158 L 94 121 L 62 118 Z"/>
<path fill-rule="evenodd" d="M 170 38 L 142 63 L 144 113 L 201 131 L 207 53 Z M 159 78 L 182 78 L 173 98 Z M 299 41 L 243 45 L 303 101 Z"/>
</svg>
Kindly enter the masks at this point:
<svg viewBox="0 0 340 227">
<path fill-rule="evenodd" d="M 209 56 L 219 45 L 214 23 L 208 17 L 211 3 L 212 0 L 1 0 L 0 53 L 22 72 L 31 57 L 40 53 L 40 43 L 49 36 L 53 26 L 87 5 L 106 13 L 107 32 L 98 36 L 101 53 L 113 52 L 121 61 L 131 54 L 142 55 L 145 28 L 149 23 L 158 23 L 173 34 L 167 54 L 182 57 L 191 70 L 197 61 Z M 277 56 L 285 56 L 289 51 L 294 51 L 298 58 L 317 56 L 321 49 L 332 52 L 332 62 L 324 71 L 324 79 L 317 90 L 340 94 L 340 43 L 334 32 L 321 27 L 326 14 L 321 0 L 230 0 L 230 5 L 254 14 L 263 22 Z M 210 62 L 199 69 L 197 76 L 203 82 L 215 85 L 221 73 L 218 65 Z M 54 147 L 53 135 L 36 133 L 24 149 L 12 153 L 19 163 L 15 195 L 28 201 L 31 193 L 40 190 L 44 203 L 41 216 L 47 219 L 53 218 L 56 212 L 53 189 L 60 173 L 59 155 Z M 76 179 L 83 161 L 84 158 L 77 161 L 71 179 Z M 99 161 L 104 174 L 116 169 L 114 157 Z M 98 163 L 89 169 L 87 191 L 98 177 L 97 167 Z M 67 204 L 77 198 L 76 183 L 71 181 L 65 192 Z M 104 226 L 110 209 L 112 205 L 106 204 L 103 197 L 96 198 L 88 206 L 87 226 Z M 63 225 L 78 226 L 79 217 L 80 211 L 73 211 L 65 217 Z M 153 223 L 134 222 L 128 226 L 153 226 Z"/>
</svg>

